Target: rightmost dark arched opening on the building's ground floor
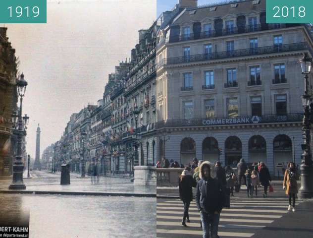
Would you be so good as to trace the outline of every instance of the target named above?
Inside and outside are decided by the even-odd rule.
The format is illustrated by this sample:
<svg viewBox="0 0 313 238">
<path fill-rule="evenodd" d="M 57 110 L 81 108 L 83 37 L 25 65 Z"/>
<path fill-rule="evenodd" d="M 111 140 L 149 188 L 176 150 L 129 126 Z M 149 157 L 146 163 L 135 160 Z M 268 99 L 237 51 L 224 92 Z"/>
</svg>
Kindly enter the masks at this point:
<svg viewBox="0 0 313 238">
<path fill-rule="evenodd" d="M 282 169 L 277 165 L 293 161 L 292 142 L 288 135 L 277 135 L 273 140 L 274 176 L 282 177 Z"/>
</svg>

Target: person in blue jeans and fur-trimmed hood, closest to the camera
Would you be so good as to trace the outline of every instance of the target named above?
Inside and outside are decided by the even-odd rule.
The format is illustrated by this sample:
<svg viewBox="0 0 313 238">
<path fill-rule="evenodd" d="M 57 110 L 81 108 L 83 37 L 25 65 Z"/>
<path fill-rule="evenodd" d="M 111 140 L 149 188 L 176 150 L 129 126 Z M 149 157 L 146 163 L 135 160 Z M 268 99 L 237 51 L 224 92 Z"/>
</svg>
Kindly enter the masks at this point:
<svg viewBox="0 0 313 238">
<path fill-rule="evenodd" d="M 196 204 L 201 216 L 203 238 L 219 238 L 219 216 L 225 199 L 220 182 L 211 177 L 211 169 L 208 161 L 203 162 L 197 183 Z"/>
</svg>

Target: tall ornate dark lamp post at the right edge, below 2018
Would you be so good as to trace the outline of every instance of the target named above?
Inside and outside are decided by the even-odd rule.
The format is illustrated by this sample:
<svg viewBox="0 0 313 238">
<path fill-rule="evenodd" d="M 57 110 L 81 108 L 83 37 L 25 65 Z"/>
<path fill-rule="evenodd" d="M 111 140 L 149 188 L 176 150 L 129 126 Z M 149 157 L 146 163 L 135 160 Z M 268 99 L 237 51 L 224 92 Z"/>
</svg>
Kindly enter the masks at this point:
<svg viewBox="0 0 313 238">
<path fill-rule="evenodd" d="M 302 74 L 305 79 L 305 91 L 302 98 L 302 106 L 304 107 L 304 117 L 302 121 L 302 130 L 304 134 L 304 144 L 302 144 L 303 160 L 300 167 L 301 170 L 301 187 L 298 192 L 299 198 L 312 198 L 313 197 L 313 161 L 310 148 L 310 125 L 312 123 L 312 98 L 309 94 L 309 73 L 311 72 L 312 58 L 308 57 L 305 53 L 302 60 L 300 60 Z M 311 112 L 310 112 L 311 106 Z"/>
</svg>

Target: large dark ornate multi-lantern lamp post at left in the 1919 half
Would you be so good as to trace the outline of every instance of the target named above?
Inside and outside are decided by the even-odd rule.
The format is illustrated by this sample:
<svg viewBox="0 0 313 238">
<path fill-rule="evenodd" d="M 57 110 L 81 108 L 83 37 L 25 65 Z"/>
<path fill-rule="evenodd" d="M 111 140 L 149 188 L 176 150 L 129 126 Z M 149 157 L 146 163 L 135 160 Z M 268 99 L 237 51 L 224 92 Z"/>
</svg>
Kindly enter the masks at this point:
<svg viewBox="0 0 313 238">
<path fill-rule="evenodd" d="M 26 86 L 27 82 L 24 80 L 24 74 L 22 73 L 19 80 L 16 83 L 17 86 L 17 92 L 20 96 L 20 108 L 18 115 L 15 113 L 12 114 L 12 122 L 13 127 L 17 128 L 13 130 L 13 134 L 17 136 L 17 153 L 13 164 L 13 179 L 12 183 L 9 185 L 9 189 L 26 189 L 26 186 L 23 182 L 23 170 L 24 170 L 24 164 L 22 161 L 22 140 L 23 137 L 26 136 L 26 125 L 28 123 L 29 117 L 25 115 L 22 119 L 22 101 L 23 97 L 25 96 Z"/>
</svg>

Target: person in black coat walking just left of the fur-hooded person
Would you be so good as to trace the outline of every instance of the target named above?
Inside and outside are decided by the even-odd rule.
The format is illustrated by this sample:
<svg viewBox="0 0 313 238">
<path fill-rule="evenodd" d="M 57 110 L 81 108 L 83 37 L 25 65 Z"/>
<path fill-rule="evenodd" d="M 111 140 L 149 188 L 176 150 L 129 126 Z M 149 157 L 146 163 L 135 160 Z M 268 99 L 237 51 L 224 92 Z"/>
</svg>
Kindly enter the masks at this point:
<svg viewBox="0 0 313 238">
<path fill-rule="evenodd" d="M 191 175 L 191 168 L 186 167 L 183 170 L 183 173 L 179 176 L 178 180 L 178 188 L 179 188 L 179 197 L 184 203 L 184 216 L 182 225 L 184 227 L 187 227 L 186 225 L 186 219 L 187 222 L 190 222 L 189 220 L 189 206 L 190 202 L 192 201 L 192 187 L 196 186 L 196 180 Z"/>
</svg>

